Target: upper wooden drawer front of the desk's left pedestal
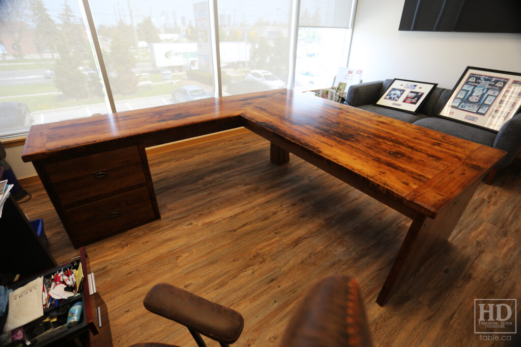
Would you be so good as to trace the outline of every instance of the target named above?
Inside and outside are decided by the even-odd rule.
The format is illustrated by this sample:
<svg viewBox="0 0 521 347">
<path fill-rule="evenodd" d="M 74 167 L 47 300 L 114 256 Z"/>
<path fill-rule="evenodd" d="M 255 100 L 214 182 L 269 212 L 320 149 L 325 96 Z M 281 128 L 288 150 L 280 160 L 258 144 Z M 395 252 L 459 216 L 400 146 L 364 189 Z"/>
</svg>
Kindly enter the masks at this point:
<svg viewBox="0 0 521 347">
<path fill-rule="evenodd" d="M 145 182 L 138 146 L 45 165 L 61 204 Z"/>
</svg>

